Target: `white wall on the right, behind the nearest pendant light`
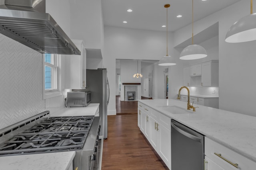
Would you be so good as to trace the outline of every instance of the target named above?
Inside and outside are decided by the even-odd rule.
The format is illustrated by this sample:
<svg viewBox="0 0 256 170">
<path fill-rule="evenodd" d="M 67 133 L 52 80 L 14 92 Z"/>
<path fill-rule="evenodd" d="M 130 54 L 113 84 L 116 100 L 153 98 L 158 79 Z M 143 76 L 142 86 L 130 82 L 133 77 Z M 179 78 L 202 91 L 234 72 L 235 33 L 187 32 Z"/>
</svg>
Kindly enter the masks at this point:
<svg viewBox="0 0 256 170">
<path fill-rule="evenodd" d="M 253 8 L 256 8 L 254 4 Z M 254 94 L 256 89 L 256 41 L 246 43 L 226 43 L 225 36 L 230 26 L 240 18 L 250 14 L 250 2 L 241 0 L 202 20 L 196 21 L 195 33 L 219 22 L 219 108 L 254 115 Z M 191 25 L 174 33 L 174 44 L 178 45 L 191 35 Z"/>
</svg>

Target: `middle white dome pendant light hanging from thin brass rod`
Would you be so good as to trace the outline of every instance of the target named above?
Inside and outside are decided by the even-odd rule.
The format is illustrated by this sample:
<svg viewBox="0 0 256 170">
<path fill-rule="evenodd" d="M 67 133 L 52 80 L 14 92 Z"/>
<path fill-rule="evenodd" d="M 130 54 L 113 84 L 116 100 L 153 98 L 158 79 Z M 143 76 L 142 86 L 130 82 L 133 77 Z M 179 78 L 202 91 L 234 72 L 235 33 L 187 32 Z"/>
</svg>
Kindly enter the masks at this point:
<svg viewBox="0 0 256 170">
<path fill-rule="evenodd" d="M 192 45 L 184 48 L 180 53 L 181 60 L 202 59 L 207 56 L 206 50 L 200 45 L 194 44 L 194 1 L 192 0 Z"/>
</svg>

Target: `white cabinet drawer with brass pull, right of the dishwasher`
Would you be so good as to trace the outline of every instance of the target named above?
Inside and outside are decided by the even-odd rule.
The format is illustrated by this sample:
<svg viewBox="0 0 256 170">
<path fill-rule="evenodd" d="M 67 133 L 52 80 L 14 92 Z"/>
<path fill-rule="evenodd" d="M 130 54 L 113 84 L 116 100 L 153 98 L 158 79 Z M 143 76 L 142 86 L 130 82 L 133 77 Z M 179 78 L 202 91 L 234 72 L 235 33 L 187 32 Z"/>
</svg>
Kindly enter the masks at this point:
<svg viewBox="0 0 256 170">
<path fill-rule="evenodd" d="M 205 155 L 224 170 L 255 170 L 256 162 L 205 137 Z M 219 156 L 217 155 L 219 154 Z M 220 157 L 221 156 L 221 157 Z M 238 164 L 236 168 L 235 164 Z"/>
</svg>

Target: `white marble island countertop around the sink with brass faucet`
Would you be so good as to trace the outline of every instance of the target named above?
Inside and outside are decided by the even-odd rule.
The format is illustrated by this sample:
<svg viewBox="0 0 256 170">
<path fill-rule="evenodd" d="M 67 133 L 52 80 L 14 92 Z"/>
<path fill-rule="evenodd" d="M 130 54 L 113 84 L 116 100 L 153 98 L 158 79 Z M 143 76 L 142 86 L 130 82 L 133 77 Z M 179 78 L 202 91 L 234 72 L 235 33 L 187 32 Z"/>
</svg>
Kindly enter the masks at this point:
<svg viewBox="0 0 256 170">
<path fill-rule="evenodd" d="M 187 102 L 172 99 L 138 102 L 256 162 L 256 117 L 196 104 L 194 106 L 199 108 L 193 112 L 186 110 Z M 178 106 L 187 113 L 173 114 L 166 106 Z"/>
</svg>

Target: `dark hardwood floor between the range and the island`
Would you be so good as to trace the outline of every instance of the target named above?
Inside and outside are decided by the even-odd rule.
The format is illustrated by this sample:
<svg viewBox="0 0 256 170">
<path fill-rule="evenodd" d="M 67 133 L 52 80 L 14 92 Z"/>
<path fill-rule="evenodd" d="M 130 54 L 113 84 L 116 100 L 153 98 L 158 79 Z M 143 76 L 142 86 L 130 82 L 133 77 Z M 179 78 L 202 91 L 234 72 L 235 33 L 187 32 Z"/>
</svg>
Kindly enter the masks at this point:
<svg viewBox="0 0 256 170">
<path fill-rule="evenodd" d="M 125 102 L 120 110 L 108 116 L 102 170 L 168 170 L 138 128 L 137 102 Z"/>
</svg>

